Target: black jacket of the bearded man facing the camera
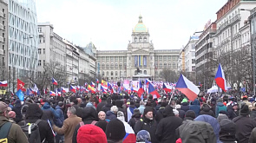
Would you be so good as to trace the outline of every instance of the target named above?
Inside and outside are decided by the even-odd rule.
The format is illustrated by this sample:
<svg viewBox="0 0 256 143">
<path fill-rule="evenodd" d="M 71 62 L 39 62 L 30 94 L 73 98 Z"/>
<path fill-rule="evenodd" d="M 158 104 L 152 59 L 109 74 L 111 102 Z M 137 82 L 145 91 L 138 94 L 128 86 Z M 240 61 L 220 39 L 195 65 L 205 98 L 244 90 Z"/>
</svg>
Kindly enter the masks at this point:
<svg viewBox="0 0 256 143">
<path fill-rule="evenodd" d="M 135 134 L 137 134 L 141 130 L 146 130 L 150 133 L 151 142 L 158 143 L 158 140 L 155 136 L 155 131 L 157 127 L 157 122 L 155 120 L 149 120 L 148 118 L 143 115 L 141 120 L 138 120 L 135 124 Z"/>
</svg>

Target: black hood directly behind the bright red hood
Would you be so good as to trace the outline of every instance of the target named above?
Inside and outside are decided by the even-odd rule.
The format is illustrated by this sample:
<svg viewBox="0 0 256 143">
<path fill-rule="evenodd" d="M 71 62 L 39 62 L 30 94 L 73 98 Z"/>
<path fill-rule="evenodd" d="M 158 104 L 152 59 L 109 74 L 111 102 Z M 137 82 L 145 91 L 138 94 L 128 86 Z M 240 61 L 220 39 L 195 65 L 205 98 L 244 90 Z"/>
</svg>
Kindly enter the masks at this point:
<svg viewBox="0 0 256 143">
<path fill-rule="evenodd" d="M 94 107 L 84 107 L 82 110 L 82 120 L 98 120 L 98 114 Z"/>
</svg>

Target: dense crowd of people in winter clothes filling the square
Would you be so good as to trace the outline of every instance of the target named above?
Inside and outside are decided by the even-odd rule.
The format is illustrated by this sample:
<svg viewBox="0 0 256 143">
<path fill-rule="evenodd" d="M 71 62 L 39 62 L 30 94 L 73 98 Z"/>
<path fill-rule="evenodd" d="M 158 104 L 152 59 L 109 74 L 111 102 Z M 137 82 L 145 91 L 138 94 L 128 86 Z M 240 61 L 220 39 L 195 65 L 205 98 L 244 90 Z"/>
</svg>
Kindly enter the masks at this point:
<svg viewBox="0 0 256 143">
<path fill-rule="evenodd" d="M 200 94 L 194 101 L 183 94 L 5 97 L 0 99 L 0 141 L 255 143 L 254 101 L 221 94 Z M 38 127 L 36 137 L 24 130 L 31 125 Z"/>
</svg>

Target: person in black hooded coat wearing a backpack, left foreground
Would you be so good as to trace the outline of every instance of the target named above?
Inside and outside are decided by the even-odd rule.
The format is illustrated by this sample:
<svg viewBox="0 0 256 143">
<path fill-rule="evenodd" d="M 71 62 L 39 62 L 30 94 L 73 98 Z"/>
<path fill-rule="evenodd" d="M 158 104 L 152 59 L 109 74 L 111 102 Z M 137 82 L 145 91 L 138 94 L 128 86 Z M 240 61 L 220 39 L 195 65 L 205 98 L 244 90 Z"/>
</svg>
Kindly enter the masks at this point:
<svg viewBox="0 0 256 143">
<path fill-rule="evenodd" d="M 44 140 L 48 143 L 54 143 L 54 134 L 51 132 L 48 121 L 41 120 L 41 117 L 43 115 L 42 109 L 36 103 L 31 103 L 26 110 L 27 112 L 25 114 L 25 120 L 19 122 L 19 125 L 23 129 L 23 132 L 28 135 L 29 126 L 27 124 L 34 123 L 36 124 L 36 127 L 38 127 L 35 127 L 35 129 L 31 129 L 32 132 L 30 136 L 28 135 L 28 139 L 39 140 L 39 142 L 43 142 Z M 39 132 L 39 134 L 36 132 Z"/>
</svg>

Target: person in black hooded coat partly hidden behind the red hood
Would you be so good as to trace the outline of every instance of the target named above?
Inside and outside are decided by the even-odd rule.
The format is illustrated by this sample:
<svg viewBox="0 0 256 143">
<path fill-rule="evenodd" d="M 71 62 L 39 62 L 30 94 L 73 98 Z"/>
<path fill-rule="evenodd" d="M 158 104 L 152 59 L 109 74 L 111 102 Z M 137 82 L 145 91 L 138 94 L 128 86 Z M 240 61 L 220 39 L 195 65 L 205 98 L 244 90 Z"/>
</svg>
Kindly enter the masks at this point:
<svg viewBox="0 0 256 143">
<path fill-rule="evenodd" d="M 98 115 L 94 107 L 84 107 L 82 110 L 82 124 L 95 124 L 98 121 Z M 75 132 L 73 134 L 72 142 L 76 143 L 77 131 L 82 124 L 78 124 L 75 127 Z"/>
</svg>

